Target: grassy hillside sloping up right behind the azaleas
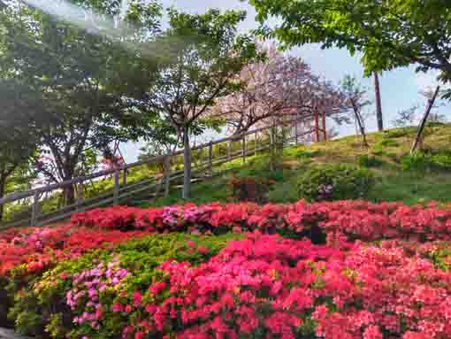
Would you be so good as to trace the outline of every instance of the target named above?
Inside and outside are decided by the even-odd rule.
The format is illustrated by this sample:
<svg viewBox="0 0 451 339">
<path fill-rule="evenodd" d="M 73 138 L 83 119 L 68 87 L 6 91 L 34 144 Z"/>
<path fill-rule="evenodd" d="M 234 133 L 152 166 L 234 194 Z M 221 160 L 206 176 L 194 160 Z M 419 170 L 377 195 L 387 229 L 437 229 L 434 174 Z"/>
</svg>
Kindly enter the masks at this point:
<svg viewBox="0 0 451 339">
<path fill-rule="evenodd" d="M 226 170 L 209 181 L 196 184 L 195 203 L 230 201 L 227 187 L 232 175 L 258 176 L 277 183 L 272 187 L 270 201 L 288 203 L 299 199 L 296 182 L 302 173 L 318 164 L 350 164 L 369 167 L 376 176 L 371 189 L 371 201 L 402 201 L 417 204 L 428 201 L 451 201 L 451 125 L 430 124 L 426 127 L 424 146 L 416 157 L 409 156 L 416 127 L 403 127 L 368 135 L 369 148 L 363 147 L 361 137 L 349 136 L 310 146 L 292 146 L 283 150 L 280 168 L 270 171 L 269 156 L 248 158 L 246 164 L 235 160 Z M 182 203 L 180 191 L 168 198 L 153 202 L 146 196 L 137 197 L 131 204 L 149 206 Z"/>
</svg>

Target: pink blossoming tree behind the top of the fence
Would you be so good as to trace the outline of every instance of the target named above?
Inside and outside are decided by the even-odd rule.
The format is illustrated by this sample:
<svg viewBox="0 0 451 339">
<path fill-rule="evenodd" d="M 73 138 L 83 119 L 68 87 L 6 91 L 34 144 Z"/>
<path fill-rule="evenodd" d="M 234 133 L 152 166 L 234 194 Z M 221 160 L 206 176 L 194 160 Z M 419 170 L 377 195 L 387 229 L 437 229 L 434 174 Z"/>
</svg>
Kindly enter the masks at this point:
<svg viewBox="0 0 451 339">
<path fill-rule="evenodd" d="M 266 58 L 240 73 L 241 88 L 218 99 L 212 115 L 225 119 L 234 134 L 274 120 L 312 119 L 316 111 L 342 119 L 340 92 L 321 81 L 302 58 L 287 57 L 273 45 L 259 47 Z"/>
</svg>

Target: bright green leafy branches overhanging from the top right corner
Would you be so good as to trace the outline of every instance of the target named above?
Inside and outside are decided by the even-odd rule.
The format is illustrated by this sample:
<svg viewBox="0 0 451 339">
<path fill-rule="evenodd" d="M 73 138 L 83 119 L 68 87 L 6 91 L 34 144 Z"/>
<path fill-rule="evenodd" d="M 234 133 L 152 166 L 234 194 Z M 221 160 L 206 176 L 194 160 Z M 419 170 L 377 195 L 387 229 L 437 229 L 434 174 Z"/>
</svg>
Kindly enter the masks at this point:
<svg viewBox="0 0 451 339">
<path fill-rule="evenodd" d="M 323 48 L 362 53 L 366 75 L 417 65 L 451 80 L 451 4 L 447 0 L 250 0 L 262 27 L 286 47 L 322 42 Z"/>
</svg>

